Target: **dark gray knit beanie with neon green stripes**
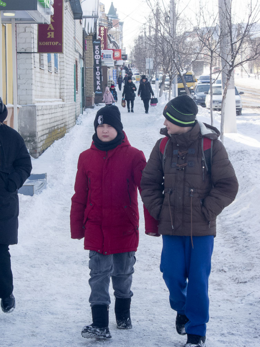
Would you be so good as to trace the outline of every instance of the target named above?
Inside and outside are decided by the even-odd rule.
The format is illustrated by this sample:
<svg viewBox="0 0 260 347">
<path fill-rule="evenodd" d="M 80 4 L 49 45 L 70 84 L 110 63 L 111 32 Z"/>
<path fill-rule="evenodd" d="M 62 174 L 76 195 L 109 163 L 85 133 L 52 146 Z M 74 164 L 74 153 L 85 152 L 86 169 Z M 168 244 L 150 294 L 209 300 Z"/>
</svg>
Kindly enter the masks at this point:
<svg viewBox="0 0 260 347">
<path fill-rule="evenodd" d="M 192 127 L 198 113 L 198 106 L 187 94 L 169 101 L 164 110 L 164 117 L 179 127 Z"/>
</svg>

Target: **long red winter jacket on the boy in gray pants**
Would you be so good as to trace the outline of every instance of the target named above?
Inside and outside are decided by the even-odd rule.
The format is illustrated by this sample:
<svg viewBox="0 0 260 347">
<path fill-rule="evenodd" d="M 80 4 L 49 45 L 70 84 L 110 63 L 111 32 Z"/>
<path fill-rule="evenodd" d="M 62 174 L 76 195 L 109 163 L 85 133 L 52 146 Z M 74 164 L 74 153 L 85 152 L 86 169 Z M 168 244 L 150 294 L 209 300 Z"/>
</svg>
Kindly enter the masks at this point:
<svg viewBox="0 0 260 347">
<path fill-rule="evenodd" d="M 70 212 L 71 238 L 84 239 L 84 248 L 103 254 L 136 251 L 139 240 L 137 188 L 140 190 L 144 153 L 123 142 L 109 151 L 94 142 L 79 155 Z M 146 232 L 158 232 L 146 208 Z"/>
</svg>

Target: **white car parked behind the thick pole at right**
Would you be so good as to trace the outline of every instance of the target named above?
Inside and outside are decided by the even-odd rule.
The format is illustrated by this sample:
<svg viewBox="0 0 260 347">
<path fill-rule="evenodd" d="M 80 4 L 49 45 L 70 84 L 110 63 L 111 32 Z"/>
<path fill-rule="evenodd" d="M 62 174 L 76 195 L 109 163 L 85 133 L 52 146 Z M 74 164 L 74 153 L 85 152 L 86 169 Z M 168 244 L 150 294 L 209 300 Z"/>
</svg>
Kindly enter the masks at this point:
<svg viewBox="0 0 260 347">
<path fill-rule="evenodd" d="M 212 102 L 213 102 L 213 110 L 221 111 L 221 103 L 222 103 L 222 86 L 221 85 L 213 85 L 212 86 Z M 206 95 L 206 108 L 210 109 L 210 91 L 204 92 Z M 236 98 L 236 114 L 237 116 L 241 116 L 242 114 L 242 100 L 240 94 L 244 94 L 244 92 L 238 92 L 235 87 L 235 98 Z"/>
</svg>

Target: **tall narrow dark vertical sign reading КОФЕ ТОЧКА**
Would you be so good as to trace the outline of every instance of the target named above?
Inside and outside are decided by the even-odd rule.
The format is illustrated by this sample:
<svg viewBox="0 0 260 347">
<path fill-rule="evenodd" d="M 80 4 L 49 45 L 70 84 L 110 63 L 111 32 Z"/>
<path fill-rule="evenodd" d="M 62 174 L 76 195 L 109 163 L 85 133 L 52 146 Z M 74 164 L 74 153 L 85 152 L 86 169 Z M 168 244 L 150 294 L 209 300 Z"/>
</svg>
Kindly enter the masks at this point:
<svg viewBox="0 0 260 347">
<path fill-rule="evenodd" d="M 95 104 L 102 102 L 102 66 L 101 66 L 101 41 L 100 39 L 93 39 L 93 56 L 94 56 L 94 93 Z"/>
</svg>

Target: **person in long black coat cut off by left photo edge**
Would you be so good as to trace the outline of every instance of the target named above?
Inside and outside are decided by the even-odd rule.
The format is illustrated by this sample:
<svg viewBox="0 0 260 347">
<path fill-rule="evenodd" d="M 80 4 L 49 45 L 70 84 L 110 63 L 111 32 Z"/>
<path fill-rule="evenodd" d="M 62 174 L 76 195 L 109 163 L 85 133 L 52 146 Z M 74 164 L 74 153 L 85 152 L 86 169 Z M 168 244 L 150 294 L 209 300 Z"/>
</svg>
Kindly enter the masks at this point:
<svg viewBox="0 0 260 347">
<path fill-rule="evenodd" d="M 9 245 L 17 244 L 19 189 L 30 176 L 32 163 L 23 138 L 3 124 L 7 108 L 0 98 L 0 298 L 2 311 L 15 308 Z"/>
</svg>

